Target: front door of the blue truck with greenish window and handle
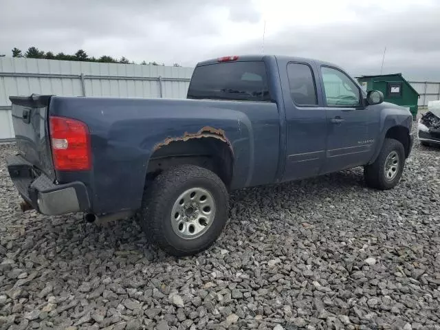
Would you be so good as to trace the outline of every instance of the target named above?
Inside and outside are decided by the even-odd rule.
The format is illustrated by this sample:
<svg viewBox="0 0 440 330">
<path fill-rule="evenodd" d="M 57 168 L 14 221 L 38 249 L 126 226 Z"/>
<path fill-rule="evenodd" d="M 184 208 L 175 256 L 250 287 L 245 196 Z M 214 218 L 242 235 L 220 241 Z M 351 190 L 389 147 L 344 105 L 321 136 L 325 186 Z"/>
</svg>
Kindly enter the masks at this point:
<svg viewBox="0 0 440 330">
<path fill-rule="evenodd" d="M 320 65 L 327 112 L 327 152 L 320 174 L 369 162 L 380 130 L 380 113 L 364 104 L 360 87 L 341 69 Z"/>
</svg>

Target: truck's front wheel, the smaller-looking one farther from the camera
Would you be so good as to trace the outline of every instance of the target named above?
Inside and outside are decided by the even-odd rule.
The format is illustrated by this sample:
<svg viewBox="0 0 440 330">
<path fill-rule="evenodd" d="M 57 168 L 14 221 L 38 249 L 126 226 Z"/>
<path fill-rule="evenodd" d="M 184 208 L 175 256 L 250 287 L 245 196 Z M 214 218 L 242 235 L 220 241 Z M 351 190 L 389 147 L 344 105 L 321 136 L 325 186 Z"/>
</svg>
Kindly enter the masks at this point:
<svg viewBox="0 0 440 330">
<path fill-rule="evenodd" d="M 404 166 L 404 146 L 397 140 L 387 138 L 375 162 L 364 167 L 365 182 L 375 189 L 394 188 L 399 183 Z"/>
</svg>

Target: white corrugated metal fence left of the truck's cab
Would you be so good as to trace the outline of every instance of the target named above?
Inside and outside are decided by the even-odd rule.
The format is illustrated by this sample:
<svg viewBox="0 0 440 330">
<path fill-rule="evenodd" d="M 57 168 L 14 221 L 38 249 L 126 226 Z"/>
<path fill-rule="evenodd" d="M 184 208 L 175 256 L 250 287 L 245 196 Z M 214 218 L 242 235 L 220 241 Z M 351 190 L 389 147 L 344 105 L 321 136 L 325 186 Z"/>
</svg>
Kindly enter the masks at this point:
<svg viewBox="0 0 440 330">
<path fill-rule="evenodd" d="M 0 140 L 14 137 L 9 96 L 186 98 L 192 67 L 0 58 Z"/>
</svg>

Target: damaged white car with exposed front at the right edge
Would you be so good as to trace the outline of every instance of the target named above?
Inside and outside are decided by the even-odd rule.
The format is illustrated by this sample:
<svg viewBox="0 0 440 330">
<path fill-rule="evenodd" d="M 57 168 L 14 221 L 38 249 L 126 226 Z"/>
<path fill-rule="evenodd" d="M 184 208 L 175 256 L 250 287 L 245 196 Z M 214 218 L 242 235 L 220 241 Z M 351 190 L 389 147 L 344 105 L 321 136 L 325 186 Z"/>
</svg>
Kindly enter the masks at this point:
<svg viewBox="0 0 440 330">
<path fill-rule="evenodd" d="M 428 103 L 428 112 L 419 119 L 417 131 L 419 141 L 424 146 L 440 145 L 440 100 Z"/>
</svg>

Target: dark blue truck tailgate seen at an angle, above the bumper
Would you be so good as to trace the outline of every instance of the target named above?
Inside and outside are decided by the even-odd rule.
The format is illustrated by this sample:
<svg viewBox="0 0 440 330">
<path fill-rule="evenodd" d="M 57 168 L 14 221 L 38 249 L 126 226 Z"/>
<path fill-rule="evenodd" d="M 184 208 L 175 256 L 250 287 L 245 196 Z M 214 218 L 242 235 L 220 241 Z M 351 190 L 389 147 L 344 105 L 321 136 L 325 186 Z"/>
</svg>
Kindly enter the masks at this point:
<svg viewBox="0 0 440 330">
<path fill-rule="evenodd" d="M 50 179 L 55 179 L 48 131 L 50 96 L 11 96 L 12 124 L 19 154 Z"/>
</svg>

